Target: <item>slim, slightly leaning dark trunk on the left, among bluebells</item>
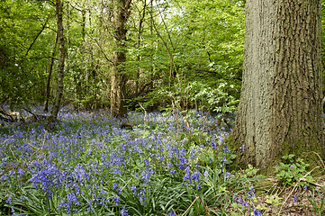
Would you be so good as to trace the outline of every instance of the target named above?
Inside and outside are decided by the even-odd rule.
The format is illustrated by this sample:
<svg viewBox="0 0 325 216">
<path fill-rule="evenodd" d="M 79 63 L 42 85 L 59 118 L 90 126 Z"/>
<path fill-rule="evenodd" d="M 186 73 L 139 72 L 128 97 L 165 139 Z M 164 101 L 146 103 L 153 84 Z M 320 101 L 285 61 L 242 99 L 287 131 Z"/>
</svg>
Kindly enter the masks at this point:
<svg viewBox="0 0 325 216">
<path fill-rule="evenodd" d="M 59 105 L 63 94 L 63 73 L 64 73 L 64 37 L 62 23 L 62 4 L 56 0 L 58 40 L 59 40 L 59 67 L 58 67 L 58 85 L 57 94 L 54 99 L 53 108 L 50 112 L 50 121 L 57 121 Z"/>
</svg>

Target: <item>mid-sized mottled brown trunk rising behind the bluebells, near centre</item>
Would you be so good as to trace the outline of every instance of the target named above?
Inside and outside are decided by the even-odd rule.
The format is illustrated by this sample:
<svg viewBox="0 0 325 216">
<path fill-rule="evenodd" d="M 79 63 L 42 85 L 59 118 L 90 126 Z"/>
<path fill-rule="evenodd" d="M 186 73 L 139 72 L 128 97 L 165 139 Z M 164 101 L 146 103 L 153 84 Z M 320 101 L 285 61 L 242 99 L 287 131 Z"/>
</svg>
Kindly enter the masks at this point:
<svg viewBox="0 0 325 216">
<path fill-rule="evenodd" d="M 116 50 L 113 52 L 113 67 L 111 76 L 111 115 L 118 117 L 127 114 L 125 106 L 126 70 L 124 63 L 126 32 L 125 23 L 130 14 L 131 0 L 116 0 L 113 2 L 113 37 Z"/>
</svg>

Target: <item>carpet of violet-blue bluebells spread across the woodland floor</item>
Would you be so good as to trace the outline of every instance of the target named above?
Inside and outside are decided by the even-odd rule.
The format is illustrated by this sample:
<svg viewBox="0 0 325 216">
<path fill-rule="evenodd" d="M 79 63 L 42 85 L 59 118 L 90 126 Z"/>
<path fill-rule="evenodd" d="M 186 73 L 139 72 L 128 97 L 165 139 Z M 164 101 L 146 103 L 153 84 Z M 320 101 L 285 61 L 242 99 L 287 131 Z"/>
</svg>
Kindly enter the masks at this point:
<svg viewBox="0 0 325 216">
<path fill-rule="evenodd" d="M 133 116 L 135 120 L 144 119 L 141 114 Z M 58 200 L 57 210 L 68 214 L 85 209 L 94 212 L 103 207 L 115 210 L 117 205 L 122 215 L 129 215 L 129 211 L 122 206 L 119 179 L 140 179 L 139 184 L 131 186 L 131 193 L 144 205 L 153 177 L 161 172 L 183 178 L 183 184 L 201 189 L 202 178 L 209 173 L 203 175 L 193 162 L 203 148 L 187 150 L 187 140 L 173 135 L 179 127 L 193 129 L 185 128 L 185 124 L 176 125 L 173 116 L 149 113 L 147 118 L 149 127 L 161 127 L 160 132 L 122 130 L 119 125 L 123 119 L 100 112 L 70 112 L 68 108 L 59 112 L 61 121 L 56 130 L 47 130 L 42 123 L 32 127 L 8 126 L 6 132 L 0 131 L 0 186 L 10 188 L 16 182 L 31 186 L 45 202 Z M 213 121 L 207 120 L 210 124 Z M 223 139 L 224 135 L 213 139 L 211 148 L 219 150 Z M 229 152 L 227 147 L 223 150 Z M 225 161 L 226 157 L 221 160 L 222 166 Z M 110 182 L 116 182 L 113 188 L 108 186 Z M 13 199 L 27 204 L 28 194 L 22 197 L 9 196 L 6 200 L 8 204 Z"/>
</svg>

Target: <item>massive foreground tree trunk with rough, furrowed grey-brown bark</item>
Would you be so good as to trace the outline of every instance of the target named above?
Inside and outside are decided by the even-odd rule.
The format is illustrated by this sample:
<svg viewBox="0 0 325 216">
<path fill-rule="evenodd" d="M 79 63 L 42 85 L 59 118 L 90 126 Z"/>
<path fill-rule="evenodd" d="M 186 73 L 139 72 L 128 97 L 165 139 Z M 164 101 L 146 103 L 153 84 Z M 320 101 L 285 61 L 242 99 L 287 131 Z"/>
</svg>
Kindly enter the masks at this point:
<svg viewBox="0 0 325 216">
<path fill-rule="evenodd" d="M 230 135 L 239 162 L 265 169 L 288 153 L 324 156 L 321 85 L 320 0 L 247 1 L 243 83 Z"/>
</svg>

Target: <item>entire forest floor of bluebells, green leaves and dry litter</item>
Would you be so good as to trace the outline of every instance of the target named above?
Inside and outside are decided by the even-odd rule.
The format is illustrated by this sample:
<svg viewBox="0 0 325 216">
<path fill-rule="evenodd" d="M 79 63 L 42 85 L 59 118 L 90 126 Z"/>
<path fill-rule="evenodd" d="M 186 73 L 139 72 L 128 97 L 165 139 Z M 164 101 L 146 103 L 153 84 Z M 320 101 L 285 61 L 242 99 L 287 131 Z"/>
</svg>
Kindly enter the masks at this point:
<svg viewBox="0 0 325 216">
<path fill-rule="evenodd" d="M 0 122 L 0 215 L 325 215 L 323 170 L 300 158 L 268 176 L 230 168 L 233 116 L 108 113 Z"/>
</svg>

